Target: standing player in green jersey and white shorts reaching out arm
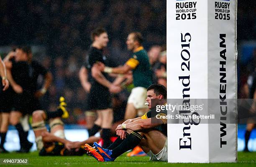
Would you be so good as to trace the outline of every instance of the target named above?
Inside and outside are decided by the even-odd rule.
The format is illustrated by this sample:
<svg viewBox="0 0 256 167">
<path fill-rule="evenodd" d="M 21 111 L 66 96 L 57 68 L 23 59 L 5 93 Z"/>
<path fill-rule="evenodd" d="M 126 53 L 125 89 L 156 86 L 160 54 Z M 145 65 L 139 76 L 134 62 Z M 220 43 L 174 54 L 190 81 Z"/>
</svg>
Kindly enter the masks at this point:
<svg viewBox="0 0 256 167">
<path fill-rule="evenodd" d="M 105 67 L 103 63 L 96 65 L 102 72 L 107 73 L 126 74 L 132 70 L 134 88 L 128 98 L 125 120 L 135 118 L 137 115 L 141 116 L 147 111 L 147 106 L 144 104 L 147 97 L 147 87 L 152 84 L 152 70 L 142 41 L 143 38 L 139 32 L 131 32 L 128 35 L 126 45 L 133 54 L 123 66 L 111 68 Z M 115 84 L 123 82 L 122 79 L 118 81 Z"/>
</svg>

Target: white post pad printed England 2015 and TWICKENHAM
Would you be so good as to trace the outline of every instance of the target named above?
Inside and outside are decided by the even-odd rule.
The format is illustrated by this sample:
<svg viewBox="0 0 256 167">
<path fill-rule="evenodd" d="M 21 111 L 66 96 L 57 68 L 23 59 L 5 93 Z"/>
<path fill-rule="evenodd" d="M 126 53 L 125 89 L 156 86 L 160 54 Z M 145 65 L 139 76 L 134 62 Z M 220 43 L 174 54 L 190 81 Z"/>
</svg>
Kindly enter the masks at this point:
<svg viewBox="0 0 256 167">
<path fill-rule="evenodd" d="M 237 113 L 237 0 L 167 0 L 166 11 L 167 98 L 218 99 L 208 110 L 222 115 L 219 124 L 169 123 L 168 162 L 237 162 L 237 124 L 226 123 Z"/>
</svg>

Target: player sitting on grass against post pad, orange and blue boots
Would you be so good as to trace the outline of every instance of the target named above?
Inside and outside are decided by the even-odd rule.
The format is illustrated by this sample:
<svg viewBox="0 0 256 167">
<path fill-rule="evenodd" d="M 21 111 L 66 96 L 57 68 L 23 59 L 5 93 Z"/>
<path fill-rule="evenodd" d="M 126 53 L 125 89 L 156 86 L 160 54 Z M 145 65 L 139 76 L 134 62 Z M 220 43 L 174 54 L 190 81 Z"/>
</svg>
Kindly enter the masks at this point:
<svg viewBox="0 0 256 167">
<path fill-rule="evenodd" d="M 108 148 L 94 142 L 94 147 L 85 144 L 84 149 L 96 160 L 104 162 L 114 161 L 124 152 L 140 145 L 150 160 L 167 161 L 167 120 L 157 118 L 157 115 L 166 115 L 166 110 L 156 112 L 155 109 L 156 105 L 164 105 L 165 99 L 166 88 L 163 85 L 150 85 L 146 99 L 150 110 L 145 115 L 118 125 L 116 133 L 119 137 Z"/>
</svg>

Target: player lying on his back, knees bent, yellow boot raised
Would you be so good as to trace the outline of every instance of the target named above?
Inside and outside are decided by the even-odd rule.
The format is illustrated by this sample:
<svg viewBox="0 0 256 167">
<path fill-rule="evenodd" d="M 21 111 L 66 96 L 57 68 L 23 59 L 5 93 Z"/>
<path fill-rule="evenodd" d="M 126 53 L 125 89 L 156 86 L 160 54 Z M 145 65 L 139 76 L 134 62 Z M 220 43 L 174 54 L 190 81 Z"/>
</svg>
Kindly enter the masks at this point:
<svg viewBox="0 0 256 167">
<path fill-rule="evenodd" d="M 64 123 L 61 121 L 61 117 L 69 117 L 66 106 L 64 97 L 60 97 L 58 110 L 54 112 L 44 112 L 42 110 L 33 112 L 32 127 L 36 136 L 39 155 L 83 155 L 85 153 L 81 147 L 81 142 L 71 142 L 65 139 Z M 46 119 L 49 119 L 50 132 L 47 132 L 46 129 Z M 97 141 L 97 137 L 90 137 L 84 142 L 92 143 L 94 141 Z M 71 146 L 76 146 L 76 148 L 71 148 Z"/>
</svg>

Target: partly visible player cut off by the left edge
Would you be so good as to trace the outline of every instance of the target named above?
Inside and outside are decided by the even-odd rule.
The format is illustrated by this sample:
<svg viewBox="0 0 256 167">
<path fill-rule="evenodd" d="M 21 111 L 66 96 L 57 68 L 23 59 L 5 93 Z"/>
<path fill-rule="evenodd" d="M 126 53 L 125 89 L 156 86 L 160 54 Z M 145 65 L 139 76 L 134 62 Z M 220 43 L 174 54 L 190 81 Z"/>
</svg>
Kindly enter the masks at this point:
<svg viewBox="0 0 256 167">
<path fill-rule="evenodd" d="M 7 80 L 7 76 L 6 76 L 6 68 L 5 68 L 5 64 L 2 60 L 2 58 L 0 57 L 0 137 L 1 137 L 1 143 L 0 143 L 0 153 L 1 152 L 7 152 L 4 147 L 3 144 L 5 142 L 5 137 L 6 137 L 6 132 L 8 129 L 8 119 L 9 119 L 9 113 L 5 112 L 5 107 L 7 103 L 7 101 L 5 101 L 5 90 L 8 89 L 9 87 L 9 82 Z"/>
</svg>

